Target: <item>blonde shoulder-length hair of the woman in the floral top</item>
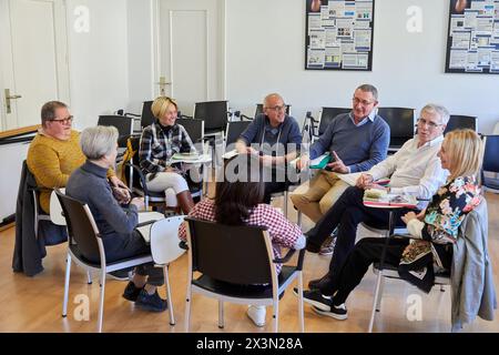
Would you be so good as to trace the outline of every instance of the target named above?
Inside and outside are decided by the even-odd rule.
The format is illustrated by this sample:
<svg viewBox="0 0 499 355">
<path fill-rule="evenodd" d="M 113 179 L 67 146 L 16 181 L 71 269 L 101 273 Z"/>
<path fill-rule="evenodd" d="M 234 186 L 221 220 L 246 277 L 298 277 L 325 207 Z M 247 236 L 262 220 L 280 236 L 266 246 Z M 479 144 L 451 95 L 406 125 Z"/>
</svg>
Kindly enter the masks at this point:
<svg viewBox="0 0 499 355">
<path fill-rule="evenodd" d="M 476 176 L 483 161 L 483 142 L 472 130 L 456 130 L 446 134 L 442 149 L 450 158 L 449 181 L 458 176 Z"/>
</svg>

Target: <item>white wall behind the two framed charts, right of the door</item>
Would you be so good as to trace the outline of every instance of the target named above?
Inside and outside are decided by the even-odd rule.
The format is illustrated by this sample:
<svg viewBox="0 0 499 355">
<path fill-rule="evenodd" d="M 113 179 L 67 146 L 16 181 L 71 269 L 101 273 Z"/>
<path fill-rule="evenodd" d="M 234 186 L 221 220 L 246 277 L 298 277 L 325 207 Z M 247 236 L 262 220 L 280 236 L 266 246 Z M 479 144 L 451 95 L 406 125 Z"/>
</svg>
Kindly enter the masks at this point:
<svg viewBox="0 0 499 355">
<path fill-rule="evenodd" d="M 349 106 L 354 89 L 367 82 L 378 88 L 380 105 L 441 103 L 451 113 L 477 115 L 483 133 L 499 120 L 498 75 L 444 73 L 447 0 L 376 0 L 371 72 L 304 69 L 303 0 L 226 2 L 227 99 L 246 114 L 277 91 L 302 121 L 323 105 Z M 410 6 L 422 9 L 421 33 L 406 30 Z"/>
</svg>

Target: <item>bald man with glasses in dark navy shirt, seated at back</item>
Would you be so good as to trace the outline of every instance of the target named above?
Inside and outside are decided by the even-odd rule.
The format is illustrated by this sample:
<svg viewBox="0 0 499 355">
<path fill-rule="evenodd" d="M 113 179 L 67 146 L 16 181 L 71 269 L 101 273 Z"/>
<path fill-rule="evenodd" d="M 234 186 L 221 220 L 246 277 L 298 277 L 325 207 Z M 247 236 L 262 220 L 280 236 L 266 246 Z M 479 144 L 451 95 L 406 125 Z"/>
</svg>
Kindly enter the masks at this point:
<svg viewBox="0 0 499 355">
<path fill-rule="evenodd" d="M 266 166 L 264 202 L 271 203 L 273 193 L 287 189 L 287 162 L 296 158 L 302 133 L 296 120 L 286 114 L 286 104 L 278 93 L 265 97 L 263 110 L 241 134 L 236 150 L 261 156 Z"/>
</svg>

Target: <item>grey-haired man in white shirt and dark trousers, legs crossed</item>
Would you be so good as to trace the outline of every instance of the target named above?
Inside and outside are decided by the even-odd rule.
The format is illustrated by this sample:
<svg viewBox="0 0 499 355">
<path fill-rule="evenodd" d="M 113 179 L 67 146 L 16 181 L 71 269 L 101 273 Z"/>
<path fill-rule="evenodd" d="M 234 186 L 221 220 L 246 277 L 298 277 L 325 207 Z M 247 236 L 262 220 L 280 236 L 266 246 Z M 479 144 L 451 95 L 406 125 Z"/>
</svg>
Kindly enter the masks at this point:
<svg viewBox="0 0 499 355">
<path fill-rule="evenodd" d="M 410 194 L 419 200 L 429 200 L 445 183 L 448 172 L 442 169 L 437 154 L 448 121 L 447 109 L 436 104 L 425 105 L 418 120 L 417 135 L 407 141 L 397 153 L 360 175 L 357 186 L 348 187 L 320 221 L 305 233 L 308 235 L 307 250 L 317 253 L 324 240 L 338 226 L 329 272 L 323 276 L 324 282 L 338 275 L 339 267 L 354 247 L 357 225 L 360 222 L 388 225 L 389 211 L 365 206 L 364 190 L 377 187 L 390 193 Z M 389 187 L 374 183 L 375 180 L 387 176 L 390 176 Z M 397 210 L 398 216 L 395 219 L 397 222 L 406 212 L 404 210 Z M 322 281 L 310 281 L 308 286 L 317 282 Z"/>
</svg>

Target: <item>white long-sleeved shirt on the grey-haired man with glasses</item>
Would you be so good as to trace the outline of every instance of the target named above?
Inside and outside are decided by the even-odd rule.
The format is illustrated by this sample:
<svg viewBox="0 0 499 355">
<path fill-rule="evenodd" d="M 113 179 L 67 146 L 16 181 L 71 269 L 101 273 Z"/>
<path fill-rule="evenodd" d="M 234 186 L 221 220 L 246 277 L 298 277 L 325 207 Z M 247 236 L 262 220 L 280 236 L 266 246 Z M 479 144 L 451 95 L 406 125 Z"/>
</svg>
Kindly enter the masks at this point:
<svg viewBox="0 0 499 355">
<path fill-rule="evenodd" d="M 429 200 L 445 184 L 449 172 L 441 168 L 437 153 L 444 135 L 418 148 L 419 138 L 407 141 L 400 150 L 373 166 L 368 174 L 374 180 L 390 178 L 390 192 Z"/>
</svg>

